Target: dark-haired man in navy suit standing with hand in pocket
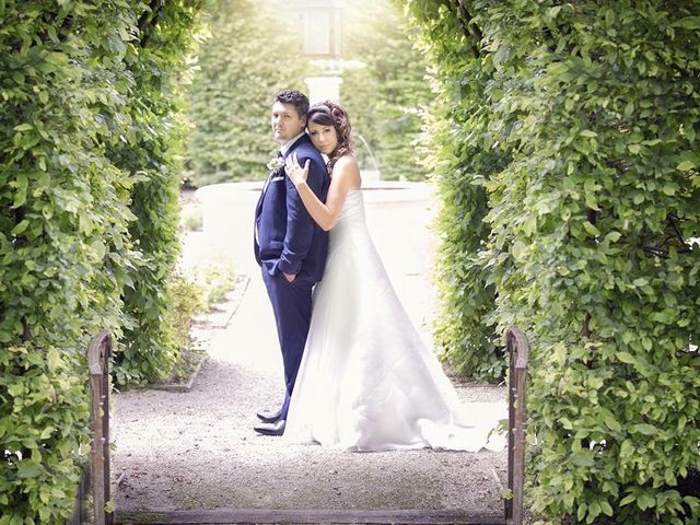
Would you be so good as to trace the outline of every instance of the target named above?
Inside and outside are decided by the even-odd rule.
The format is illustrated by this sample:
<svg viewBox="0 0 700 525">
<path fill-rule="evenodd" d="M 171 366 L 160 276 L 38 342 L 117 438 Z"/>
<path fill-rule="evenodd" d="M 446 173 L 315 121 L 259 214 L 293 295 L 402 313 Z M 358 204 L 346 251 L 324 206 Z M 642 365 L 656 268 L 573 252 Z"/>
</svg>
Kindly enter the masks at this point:
<svg viewBox="0 0 700 525">
<path fill-rule="evenodd" d="M 255 210 L 255 258 L 272 303 L 277 335 L 284 363 L 287 392 L 279 410 L 258 412 L 255 430 L 266 435 L 284 433 L 287 411 L 294 388 L 311 323 L 312 288 L 324 272 L 328 235 L 313 221 L 296 188 L 284 174 L 284 162 L 294 153 L 299 163 L 308 160 L 308 187 L 326 200 L 330 184 L 320 153 L 305 132 L 308 98 L 283 90 L 272 105 L 272 132 L 281 144 Z"/>
</svg>

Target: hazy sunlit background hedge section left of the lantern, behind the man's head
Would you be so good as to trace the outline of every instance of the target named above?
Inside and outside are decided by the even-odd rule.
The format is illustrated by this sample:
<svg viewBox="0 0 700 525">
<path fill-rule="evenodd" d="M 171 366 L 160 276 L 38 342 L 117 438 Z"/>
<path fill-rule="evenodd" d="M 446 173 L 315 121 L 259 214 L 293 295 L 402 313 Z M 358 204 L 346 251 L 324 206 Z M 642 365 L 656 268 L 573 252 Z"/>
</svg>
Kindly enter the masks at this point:
<svg viewBox="0 0 700 525">
<path fill-rule="evenodd" d="M 308 66 L 296 57 L 295 20 L 287 2 L 211 0 L 206 39 L 187 93 L 191 132 L 187 182 L 194 186 L 255 180 L 277 149 L 270 131 L 275 94 L 306 91 Z"/>
</svg>

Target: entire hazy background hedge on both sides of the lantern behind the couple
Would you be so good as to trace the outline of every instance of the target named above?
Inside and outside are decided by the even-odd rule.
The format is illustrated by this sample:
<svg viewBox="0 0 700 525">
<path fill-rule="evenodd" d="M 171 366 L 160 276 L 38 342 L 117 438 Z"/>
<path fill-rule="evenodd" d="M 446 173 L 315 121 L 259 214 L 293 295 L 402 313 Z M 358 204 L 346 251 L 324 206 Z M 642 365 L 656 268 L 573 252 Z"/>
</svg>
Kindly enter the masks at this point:
<svg viewBox="0 0 700 525">
<path fill-rule="evenodd" d="M 340 101 L 348 108 L 363 170 L 384 179 L 422 180 L 416 154 L 420 109 L 430 100 L 425 61 L 389 0 L 341 2 Z M 301 52 L 301 9 L 284 0 L 215 0 L 188 90 L 187 182 L 195 186 L 265 177 L 276 151 L 269 112 L 283 88 L 303 92 L 327 60 Z M 369 148 L 368 148 L 369 144 Z"/>
</svg>

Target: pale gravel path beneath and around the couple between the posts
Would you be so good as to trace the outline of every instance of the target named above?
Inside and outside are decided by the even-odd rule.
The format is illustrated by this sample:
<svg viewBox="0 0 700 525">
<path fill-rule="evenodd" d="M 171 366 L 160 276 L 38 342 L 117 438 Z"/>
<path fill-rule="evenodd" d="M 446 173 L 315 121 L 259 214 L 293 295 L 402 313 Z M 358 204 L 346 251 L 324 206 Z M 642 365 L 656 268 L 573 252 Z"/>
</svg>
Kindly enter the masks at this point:
<svg viewBox="0 0 700 525">
<path fill-rule="evenodd" d="M 424 295 L 433 293 L 425 273 L 392 273 L 387 268 L 409 315 L 425 332 L 434 311 Z M 501 511 L 505 452 L 359 454 L 257 435 L 255 412 L 282 397 L 273 326 L 261 279 L 252 275 L 230 325 L 212 331 L 209 357 L 190 392 L 135 389 L 113 397 L 113 498 L 118 512 Z M 471 384 L 457 385 L 457 390 L 464 400 L 505 399 L 504 387 Z"/>
</svg>

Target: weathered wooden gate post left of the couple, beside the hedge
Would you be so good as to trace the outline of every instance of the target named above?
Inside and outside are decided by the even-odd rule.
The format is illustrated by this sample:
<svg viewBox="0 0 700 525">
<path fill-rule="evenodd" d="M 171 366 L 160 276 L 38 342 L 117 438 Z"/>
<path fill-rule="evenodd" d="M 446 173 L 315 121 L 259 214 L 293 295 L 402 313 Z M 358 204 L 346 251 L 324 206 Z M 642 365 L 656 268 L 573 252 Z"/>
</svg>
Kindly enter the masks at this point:
<svg viewBox="0 0 700 525">
<path fill-rule="evenodd" d="M 88 368 L 92 390 L 91 482 L 95 525 L 113 525 L 114 513 L 105 511 L 109 501 L 109 354 L 112 337 L 97 334 L 88 348 Z"/>
</svg>

